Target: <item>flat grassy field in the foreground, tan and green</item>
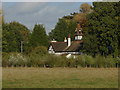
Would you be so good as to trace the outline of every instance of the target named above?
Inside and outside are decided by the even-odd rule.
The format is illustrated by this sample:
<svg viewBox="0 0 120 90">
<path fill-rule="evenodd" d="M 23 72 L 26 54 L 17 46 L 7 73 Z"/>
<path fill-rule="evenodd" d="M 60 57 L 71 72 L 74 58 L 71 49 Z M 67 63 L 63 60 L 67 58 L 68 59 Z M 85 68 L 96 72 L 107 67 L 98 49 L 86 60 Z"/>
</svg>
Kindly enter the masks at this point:
<svg viewBox="0 0 120 90">
<path fill-rule="evenodd" d="M 116 68 L 3 68 L 3 88 L 118 88 Z"/>
</svg>

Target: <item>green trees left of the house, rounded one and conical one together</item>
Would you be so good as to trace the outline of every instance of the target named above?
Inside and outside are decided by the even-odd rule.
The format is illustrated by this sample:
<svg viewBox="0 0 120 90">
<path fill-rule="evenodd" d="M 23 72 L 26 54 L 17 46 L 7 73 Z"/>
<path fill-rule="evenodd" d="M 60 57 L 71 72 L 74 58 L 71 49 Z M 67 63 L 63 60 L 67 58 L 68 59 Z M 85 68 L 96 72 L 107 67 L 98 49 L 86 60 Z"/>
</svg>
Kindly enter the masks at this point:
<svg viewBox="0 0 120 90">
<path fill-rule="evenodd" d="M 35 24 L 31 33 L 25 25 L 19 22 L 4 23 L 2 33 L 3 52 L 29 53 L 37 46 L 48 46 L 48 36 L 45 27 L 41 24 Z"/>
</svg>

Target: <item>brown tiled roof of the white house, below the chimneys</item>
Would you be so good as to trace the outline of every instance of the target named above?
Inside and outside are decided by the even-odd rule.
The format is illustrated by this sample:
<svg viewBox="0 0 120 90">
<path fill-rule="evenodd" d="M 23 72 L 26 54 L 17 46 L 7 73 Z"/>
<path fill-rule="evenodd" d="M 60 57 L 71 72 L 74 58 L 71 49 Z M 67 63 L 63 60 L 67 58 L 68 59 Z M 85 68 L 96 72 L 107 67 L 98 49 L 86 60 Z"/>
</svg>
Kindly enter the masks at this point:
<svg viewBox="0 0 120 90">
<path fill-rule="evenodd" d="M 67 42 L 51 42 L 51 45 L 56 52 L 72 52 L 79 51 L 82 42 L 82 40 L 72 41 L 69 47 L 67 46 Z"/>
</svg>

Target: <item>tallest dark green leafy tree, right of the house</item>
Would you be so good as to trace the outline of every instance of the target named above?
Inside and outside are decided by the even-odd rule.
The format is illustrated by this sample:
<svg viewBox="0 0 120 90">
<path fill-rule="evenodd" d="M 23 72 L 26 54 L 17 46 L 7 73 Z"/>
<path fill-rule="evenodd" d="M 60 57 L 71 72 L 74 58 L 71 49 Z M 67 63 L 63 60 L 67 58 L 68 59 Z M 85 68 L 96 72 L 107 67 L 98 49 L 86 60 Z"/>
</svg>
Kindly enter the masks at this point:
<svg viewBox="0 0 120 90">
<path fill-rule="evenodd" d="M 94 12 L 88 15 L 87 27 L 85 29 L 85 46 L 86 52 L 93 53 L 93 48 L 96 53 L 107 56 L 112 54 L 118 56 L 118 20 L 116 19 L 118 3 L 113 2 L 94 2 Z M 93 41 L 92 42 L 91 38 Z M 91 41 L 91 42 L 90 42 Z M 95 47 L 96 48 L 95 48 Z"/>
</svg>

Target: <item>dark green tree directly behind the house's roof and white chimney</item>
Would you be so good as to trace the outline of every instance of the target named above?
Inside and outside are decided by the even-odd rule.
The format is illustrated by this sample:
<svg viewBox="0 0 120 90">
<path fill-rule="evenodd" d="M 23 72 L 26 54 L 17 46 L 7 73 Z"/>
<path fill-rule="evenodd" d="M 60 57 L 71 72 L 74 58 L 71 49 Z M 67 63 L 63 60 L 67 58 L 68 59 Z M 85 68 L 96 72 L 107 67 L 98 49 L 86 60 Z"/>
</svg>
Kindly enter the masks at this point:
<svg viewBox="0 0 120 90">
<path fill-rule="evenodd" d="M 49 33 L 50 39 L 55 39 L 57 41 L 64 41 L 65 37 L 71 35 L 72 40 L 74 40 L 74 31 L 76 28 L 76 22 L 68 21 L 65 19 L 59 19 L 55 29 Z"/>
</svg>

